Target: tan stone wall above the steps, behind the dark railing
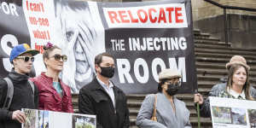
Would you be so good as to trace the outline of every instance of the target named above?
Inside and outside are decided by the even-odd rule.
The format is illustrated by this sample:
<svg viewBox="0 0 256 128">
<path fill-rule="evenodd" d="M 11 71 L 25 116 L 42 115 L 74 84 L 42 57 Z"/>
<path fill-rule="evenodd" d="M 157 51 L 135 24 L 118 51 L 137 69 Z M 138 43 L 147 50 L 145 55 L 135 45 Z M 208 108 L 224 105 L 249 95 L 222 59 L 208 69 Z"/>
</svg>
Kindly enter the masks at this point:
<svg viewBox="0 0 256 128">
<path fill-rule="evenodd" d="M 86 1 L 86 0 L 85 0 Z M 154 0 L 91 0 L 98 2 L 139 2 Z M 256 0 L 214 0 L 229 6 L 256 9 Z M 225 40 L 224 10 L 204 0 L 191 0 L 194 28 Z M 256 12 L 227 9 L 228 40 L 236 48 L 256 49 Z"/>
</svg>

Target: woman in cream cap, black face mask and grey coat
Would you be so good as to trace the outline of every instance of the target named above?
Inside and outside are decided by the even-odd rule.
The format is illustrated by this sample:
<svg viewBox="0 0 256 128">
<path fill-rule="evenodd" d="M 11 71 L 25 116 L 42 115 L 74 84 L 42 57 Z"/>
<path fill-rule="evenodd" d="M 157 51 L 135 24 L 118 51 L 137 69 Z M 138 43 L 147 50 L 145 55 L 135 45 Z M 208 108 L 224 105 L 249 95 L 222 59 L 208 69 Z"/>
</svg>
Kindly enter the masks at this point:
<svg viewBox="0 0 256 128">
<path fill-rule="evenodd" d="M 137 115 L 140 128 L 190 128 L 189 110 L 175 95 L 181 75 L 177 69 L 164 69 L 159 74 L 158 93 L 146 96 Z M 153 119 L 153 118 L 156 118 Z"/>
</svg>

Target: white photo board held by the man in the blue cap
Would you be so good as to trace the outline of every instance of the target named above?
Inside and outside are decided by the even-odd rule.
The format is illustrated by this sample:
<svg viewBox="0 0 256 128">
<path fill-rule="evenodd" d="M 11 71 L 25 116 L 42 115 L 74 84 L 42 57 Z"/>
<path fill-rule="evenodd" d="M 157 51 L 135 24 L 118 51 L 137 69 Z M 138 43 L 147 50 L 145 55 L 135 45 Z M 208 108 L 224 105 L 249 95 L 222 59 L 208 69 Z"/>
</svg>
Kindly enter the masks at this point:
<svg viewBox="0 0 256 128">
<path fill-rule="evenodd" d="M 96 115 L 37 109 L 22 111 L 26 115 L 26 122 L 22 124 L 22 128 L 96 128 Z"/>
</svg>

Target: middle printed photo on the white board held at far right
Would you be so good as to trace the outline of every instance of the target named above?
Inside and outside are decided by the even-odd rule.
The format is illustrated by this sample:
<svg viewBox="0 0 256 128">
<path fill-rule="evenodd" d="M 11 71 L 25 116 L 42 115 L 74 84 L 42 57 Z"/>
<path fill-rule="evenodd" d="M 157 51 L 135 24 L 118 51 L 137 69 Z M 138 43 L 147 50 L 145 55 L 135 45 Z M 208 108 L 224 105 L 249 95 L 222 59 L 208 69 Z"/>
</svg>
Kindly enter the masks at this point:
<svg viewBox="0 0 256 128">
<path fill-rule="evenodd" d="M 246 109 L 231 108 L 231 118 L 234 125 L 247 125 Z"/>
</svg>

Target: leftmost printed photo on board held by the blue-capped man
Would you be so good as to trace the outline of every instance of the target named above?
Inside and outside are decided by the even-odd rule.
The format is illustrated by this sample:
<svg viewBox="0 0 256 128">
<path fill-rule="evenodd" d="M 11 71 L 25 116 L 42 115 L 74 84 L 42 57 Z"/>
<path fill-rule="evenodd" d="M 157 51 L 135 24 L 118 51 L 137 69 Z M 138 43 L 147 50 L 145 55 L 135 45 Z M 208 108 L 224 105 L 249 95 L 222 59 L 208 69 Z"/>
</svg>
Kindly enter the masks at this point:
<svg viewBox="0 0 256 128">
<path fill-rule="evenodd" d="M 36 119 L 37 119 L 37 110 L 33 109 L 24 109 L 26 115 L 26 121 L 23 124 L 23 128 L 37 128 Z"/>
</svg>

